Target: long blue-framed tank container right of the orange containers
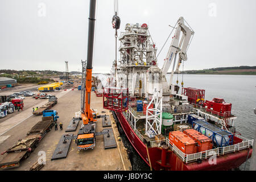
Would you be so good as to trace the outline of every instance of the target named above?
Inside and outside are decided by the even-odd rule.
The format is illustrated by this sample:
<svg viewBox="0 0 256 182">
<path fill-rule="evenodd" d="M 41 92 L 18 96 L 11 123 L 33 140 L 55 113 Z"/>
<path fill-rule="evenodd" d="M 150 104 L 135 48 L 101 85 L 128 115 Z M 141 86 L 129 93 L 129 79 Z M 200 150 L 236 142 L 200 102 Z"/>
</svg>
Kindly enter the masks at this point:
<svg viewBox="0 0 256 182">
<path fill-rule="evenodd" d="M 233 144 L 233 134 L 213 126 L 204 120 L 192 121 L 193 129 L 209 137 L 218 147 Z"/>
</svg>

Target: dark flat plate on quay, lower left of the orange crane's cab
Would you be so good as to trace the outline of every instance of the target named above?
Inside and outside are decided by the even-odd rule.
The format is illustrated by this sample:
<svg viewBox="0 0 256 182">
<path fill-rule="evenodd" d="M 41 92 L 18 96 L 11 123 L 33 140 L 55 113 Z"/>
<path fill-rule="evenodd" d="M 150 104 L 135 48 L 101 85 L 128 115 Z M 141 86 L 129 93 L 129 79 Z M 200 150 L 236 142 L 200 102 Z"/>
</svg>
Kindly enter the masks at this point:
<svg viewBox="0 0 256 182">
<path fill-rule="evenodd" d="M 61 136 L 60 141 L 57 144 L 57 147 L 52 155 L 51 160 L 64 159 L 67 157 L 69 146 L 71 144 L 72 139 L 64 141 L 64 136 L 65 137 L 73 137 L 73 134 L 65 134 L 65 135 Z"/>
</svg>

